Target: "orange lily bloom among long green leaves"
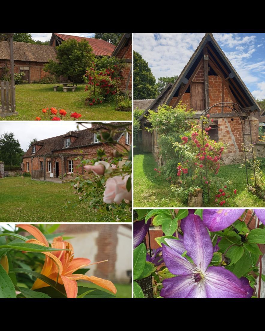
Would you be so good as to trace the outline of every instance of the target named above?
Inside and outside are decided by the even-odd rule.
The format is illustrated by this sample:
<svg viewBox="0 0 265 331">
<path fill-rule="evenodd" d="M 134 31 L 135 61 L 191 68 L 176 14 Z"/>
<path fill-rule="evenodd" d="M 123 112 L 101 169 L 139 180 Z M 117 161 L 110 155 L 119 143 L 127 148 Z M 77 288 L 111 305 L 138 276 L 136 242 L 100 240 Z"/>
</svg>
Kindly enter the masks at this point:
<svg viewBox="0 0 265 331">
<path fill-rule="evenodd" d="M 29 239 L 26 242 L 32 244 L 38 244 L 49 247 L 49 243 L 45 236 L 35 226 L 30 224 L 16 225 L 25 231 L 32 234 L 36 239 Z M 117 290 L 113 283 L 109 280 L 98 278 L 95 276 L 86 276 L 81 274 L 73 274 L 74 271 L 89 265 L 91 260 L 83 258 L 73 258 L 73 247 L 67 241 L 64 241 L 62 237 L 56 237 L 53 240 L 52 248 L 68 249 L 69 251 L 53 251 L 42 252 L 46 255 L 45 263 L 42 268 L 41 274 L 47 276 L 52 280 L 57 280 L 58 283 L 63 284 L 66 290 L 67 298 L 76 298 L 77 296 L 77 280 L 84 279 L 97 284 L 112 293 L 116 293 Z M 94 264 L 94 263 L 93 263 Z M 40 279 L 37 279 L 32 286 L 32 290 L 36 290 L 45 286 L 49 286 L 47 283 Z"/>
</svg>

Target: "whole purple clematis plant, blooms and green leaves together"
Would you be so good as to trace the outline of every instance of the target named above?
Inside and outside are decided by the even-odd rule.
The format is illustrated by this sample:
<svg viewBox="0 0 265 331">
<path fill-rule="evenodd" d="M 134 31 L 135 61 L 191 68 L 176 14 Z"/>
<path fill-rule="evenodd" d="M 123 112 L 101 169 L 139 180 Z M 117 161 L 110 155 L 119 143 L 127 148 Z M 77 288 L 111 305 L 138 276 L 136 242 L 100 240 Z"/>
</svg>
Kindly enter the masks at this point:
<svg viewBox="0 0 265 331">
<path fill-rule="evenodd" d="M 260 297 L 264 210 L 136 211 L 134 297 L 145 298 L 150 287 L 155 298 Z M 253 217 L 256 228 L 249 227 Z M 155 238 L 161 249 L 152 252 L 143 243 L 151 224 L 163 232 Z"/>
</svg>

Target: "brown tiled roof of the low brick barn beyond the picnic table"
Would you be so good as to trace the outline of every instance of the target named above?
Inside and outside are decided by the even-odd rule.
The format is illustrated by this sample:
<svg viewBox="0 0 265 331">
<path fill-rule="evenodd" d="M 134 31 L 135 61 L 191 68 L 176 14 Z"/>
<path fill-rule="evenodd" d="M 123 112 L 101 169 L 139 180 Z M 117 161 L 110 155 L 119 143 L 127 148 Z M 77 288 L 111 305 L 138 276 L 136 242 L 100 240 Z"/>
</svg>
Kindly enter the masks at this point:
<svg viewBox="0 0 265 331">
<path fill-rule="evenodd" d="M 14 60 L 33 62 L 49 62 L 49 60 L 54 60 L 58 62 L 56 60 L 56 50 L 53 46 L 14 41 L 13 49 Z M 10 60 L 8 41 L 0 42 L 0 59 Z"/>
</svg>

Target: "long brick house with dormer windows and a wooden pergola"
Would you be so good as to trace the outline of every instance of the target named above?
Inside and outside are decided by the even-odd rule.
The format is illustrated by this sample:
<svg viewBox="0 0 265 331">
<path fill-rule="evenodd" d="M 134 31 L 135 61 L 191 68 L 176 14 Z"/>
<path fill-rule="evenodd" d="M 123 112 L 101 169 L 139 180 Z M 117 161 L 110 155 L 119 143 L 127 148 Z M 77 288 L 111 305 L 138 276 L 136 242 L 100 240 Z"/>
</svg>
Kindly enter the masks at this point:
<svg viewBox="0 0 265 331">
<path fill-rule="evenodd" d="M 96 133 L 92 132 L 92 129 L 96 130 Z M 32 178 L 41 180 L 49 180 L 51 177 L 59 180 L 60 176 L 64 180 L 77 173 L 88 178 L 89 175 L 83 166 L 79 166 L 80 160 L 75 158 L 81 157 L 83 160 L 97 158 L 99 148 L 105 150 L 107 158 L 111 158 L 110 153 L 113 150 L 124 152 L 124 148 L 117 143 L 110 145 L 98 141 L 97 132 L 107 129 L 104 124 L 92 124 L 92 128 L 69 131 L 57 137 L 36 141 L 22 157 L 22 170 L 30 172 Z M 131 134 L 126 132 L 124 127 L 119 128 L 118 131 L 114 140 L 129 149 Z"/>
</svg>

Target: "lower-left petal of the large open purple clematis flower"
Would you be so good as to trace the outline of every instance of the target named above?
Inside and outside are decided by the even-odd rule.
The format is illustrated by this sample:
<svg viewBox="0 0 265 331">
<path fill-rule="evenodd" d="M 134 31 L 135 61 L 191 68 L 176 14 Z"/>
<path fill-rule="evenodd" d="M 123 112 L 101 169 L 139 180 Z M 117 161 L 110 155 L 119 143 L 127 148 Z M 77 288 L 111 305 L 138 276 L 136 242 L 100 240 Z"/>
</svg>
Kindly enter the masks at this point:
<svg viewBox="0 0 265 331">
<path fill-rule="evenodd" d="M 191 274 L 164 279 L 163 286 L 163 298 L 206 298 L 203 282 L 196 283 Z"/>
</svg>

